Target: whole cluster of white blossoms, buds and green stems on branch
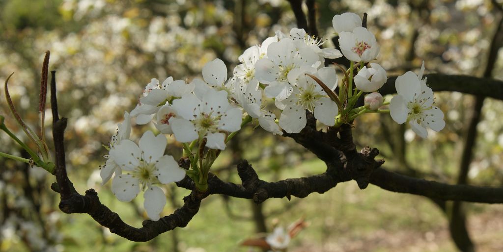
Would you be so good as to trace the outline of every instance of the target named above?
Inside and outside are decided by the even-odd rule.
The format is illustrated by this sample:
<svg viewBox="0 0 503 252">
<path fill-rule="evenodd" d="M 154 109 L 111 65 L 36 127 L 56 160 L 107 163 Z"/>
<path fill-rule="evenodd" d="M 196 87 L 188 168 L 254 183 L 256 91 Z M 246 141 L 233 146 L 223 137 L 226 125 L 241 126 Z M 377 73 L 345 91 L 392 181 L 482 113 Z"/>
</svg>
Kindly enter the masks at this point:
<svg viewBox="0 0 503 252">
<path fill-rule="evenodd" d="M 152 79 L 136 108 L 119 124 L 102 169 L 103 182 L 115 173 L 112 191 L 122 201 L 130 201 L 144 190 L 147 214 L 156 220 L 166 202 L 156 184 L 180 181 L 188 175 L 198 189 L 205 190 L 209 168 L 246 123 L 282 135 L 299 133 L 305 127 L 306 110 L 328 127 L 339 127 L 367 112 L 390 112 L 397 123 L 408 121 L 421 137 L 427 136 L 427 127 L 444 128 L 444 114 L 433 106 L 432 89 L 422 79 L 424 66 L 419 76 L 407 72 L 398 77 L 398 95 L 384 101 L 377 90 L 386 83 L 386 71 L 370 62 L 379 54 L 375 36 L 354 13 L 336 15 L 332 22 L 341 51 L 320 49 L 324 40 L 294 28 L 246 49 L 230 78 L 224 62 L 215 59 L 203 67 L 202 79 L 190 83 L 169 77 L 160 84 Z M 325 59 L 343 56 L 351 67 L 343 69 L 339 81 L 336 68 L 325 66 Z M 355 108 L 364 93 L 369 93 L 365 105 Z M 272 103 L 275 112 L 265 109 Z M 388 104 L 389 109 L 380 109 Z M 130 117 L 136 117 L 137 124 L 153 122 L 161 134 L 155 137 L 148 131 L 136 145 L 129 140 Z M 191 169 L 184 170 L 173 157 L 163 155 L 166 139 L 162 134 L 174 135 L 183 143 Z"/>
</svg>

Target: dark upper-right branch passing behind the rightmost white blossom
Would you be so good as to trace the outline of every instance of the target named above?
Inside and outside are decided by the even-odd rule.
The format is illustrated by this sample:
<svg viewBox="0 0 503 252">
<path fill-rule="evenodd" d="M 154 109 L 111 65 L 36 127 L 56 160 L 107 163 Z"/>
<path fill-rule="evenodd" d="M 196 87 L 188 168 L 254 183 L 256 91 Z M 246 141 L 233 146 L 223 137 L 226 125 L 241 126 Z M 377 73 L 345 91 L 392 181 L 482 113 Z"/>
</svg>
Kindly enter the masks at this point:
<svg viewBox="0 0 503 252">
<path fill-rule="evenodd" d="M 428 85 L 433 91 L 456 91 L 466 94 L 503 100 L 503 81 L 468 75 L 427 74 Z M 382 95 L 396 93 L 396 76 L 389 77 L 379 89 Z"/>
</svg>

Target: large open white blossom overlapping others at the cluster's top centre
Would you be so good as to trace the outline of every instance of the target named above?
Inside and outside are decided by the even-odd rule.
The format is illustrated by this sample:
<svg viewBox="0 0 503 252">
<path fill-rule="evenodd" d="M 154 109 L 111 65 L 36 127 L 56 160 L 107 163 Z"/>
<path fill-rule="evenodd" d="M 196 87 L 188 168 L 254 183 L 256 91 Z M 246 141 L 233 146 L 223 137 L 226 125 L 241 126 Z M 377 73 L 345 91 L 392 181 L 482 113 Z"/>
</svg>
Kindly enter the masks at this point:
<svg viewBox="0 0 503 252">
<path fill-rule="evenodd" d="M 299 48 L 291 39 L 285 38 L 272 43 L 267 49 L 267 58 L 257 61 L 255 64 L 255 76 L 258 81 L 269 84 L 265 88 L 266 96 L 284 100 L 292 94 L 292 81 L 289 73 L 292 69 L 301 66 L 318 66 L 319 56 L 312 49 Z"/>
</svg>

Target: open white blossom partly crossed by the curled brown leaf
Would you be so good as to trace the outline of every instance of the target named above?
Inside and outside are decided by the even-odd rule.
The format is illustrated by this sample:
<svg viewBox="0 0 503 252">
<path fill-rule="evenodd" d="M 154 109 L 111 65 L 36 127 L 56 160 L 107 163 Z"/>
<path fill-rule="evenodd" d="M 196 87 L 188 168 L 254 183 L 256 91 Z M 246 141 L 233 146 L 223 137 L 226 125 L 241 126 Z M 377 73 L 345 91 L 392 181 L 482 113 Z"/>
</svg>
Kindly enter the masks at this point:
<svg viewBox="0 0 503 252">
<path fill-rule="evenodd" d="M 332 90 L 337 86 L 336 70 L 331 67 L 312 69 L 310 73 Z M 299 133 L 304 129 L 306 109 L 312 111 L 316 119 L 328 126 L 335 124 L 334 117 L 339 112 L 337 103 L 328 97 L 315 80 L 304 74 L 298 75 L 292 95 L 284 100 L 283 104 L 285 108 L 281 113 L 279 125 L 287 133 Z"/>
</svg>

